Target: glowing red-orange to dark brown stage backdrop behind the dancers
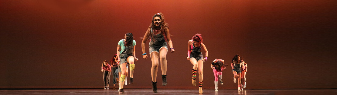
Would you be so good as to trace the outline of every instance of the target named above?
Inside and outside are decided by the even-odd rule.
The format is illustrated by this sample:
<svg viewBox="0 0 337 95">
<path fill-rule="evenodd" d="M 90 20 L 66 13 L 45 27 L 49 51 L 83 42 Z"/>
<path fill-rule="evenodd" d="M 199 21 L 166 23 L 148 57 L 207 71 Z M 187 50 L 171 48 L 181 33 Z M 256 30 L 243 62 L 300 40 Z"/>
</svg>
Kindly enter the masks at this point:
<svg viewBox="0 0 337 95">
<path fill-rule="evenodd" d="M 140 60 L 134 84 L 124 88 L 150 89 L 151 60 L 142 58 L 140 37 L 158 12 L 176 50 L 167 54 L 168 85 L 159 89 L 197 89 L 186 60 L 196 33 L 209 51 L 203 88 L 214 88 L 211 60 L 230 64 L 236 54 L 249 65 L 247 89 L 337 88 L 336 6 L 336 0 L 1 0 L 0 88 L 102 88 L 102 62 L 132 32 Z M 236 89 L 227 68 L 219 88 Z M 159 84 L 160 75 L 158 69 Z"/>
</svg>

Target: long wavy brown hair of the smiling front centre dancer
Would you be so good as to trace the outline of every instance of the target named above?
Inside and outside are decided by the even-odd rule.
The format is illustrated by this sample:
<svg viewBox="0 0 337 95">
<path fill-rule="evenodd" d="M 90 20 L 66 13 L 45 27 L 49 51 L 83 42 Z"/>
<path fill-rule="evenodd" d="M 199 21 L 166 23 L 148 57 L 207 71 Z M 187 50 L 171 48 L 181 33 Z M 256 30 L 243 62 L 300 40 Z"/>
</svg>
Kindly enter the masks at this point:
<svg viewBox="0 0 337 95">
<path fill-rule="evenodd" d="M 156 25 L 154 25 L 153 23 L 153 19 L 154 17 L 159 17 L 161 22 L 159 24 L 159 31 L 156 32 L 156 31 L 153 31 L 153 33 L 151 33 L 151 29 L 155 29 L 156 28 Z M 147 30 L 148 32 L 148 36 L 149 36 L 149 39 L 152 39 L 153 41 L 156 41 L 156 38 L 153 37 L 154 34 L 158 34 L 158 33 L 161 33 L 164 35 L 164 38 L 166 39 L 166 36 L 165 36 L 165 30 L 168 29 L 168 24 L 165 22 L 165 18 L 164 18 L 164 15 L 163 13 L 157 13 L 155 15 L 153 15 L 152 17 L 152 21 L 151 21 L 151 24 Z"/>
</svg>

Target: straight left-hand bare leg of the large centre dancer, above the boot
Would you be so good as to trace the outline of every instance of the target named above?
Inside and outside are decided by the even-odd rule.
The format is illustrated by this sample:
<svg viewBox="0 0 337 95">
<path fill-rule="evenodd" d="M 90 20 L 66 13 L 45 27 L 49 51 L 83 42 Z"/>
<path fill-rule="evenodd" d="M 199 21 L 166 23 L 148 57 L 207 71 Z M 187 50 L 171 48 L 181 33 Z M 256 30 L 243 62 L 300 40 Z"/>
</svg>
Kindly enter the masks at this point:
<svg viewBox="0 0 337 95">
<path fill-rule="evenodd" d="M 152 61 L 152 68 L 151 68 L 151 77 L 152 77 L 152 82 L 157 82 L 157 72 L 158 72 L 158 58 L 159 54 L 157 52 L 152 52 L 150 54 L 151 56 L 151 61 Z"/>
</svg>

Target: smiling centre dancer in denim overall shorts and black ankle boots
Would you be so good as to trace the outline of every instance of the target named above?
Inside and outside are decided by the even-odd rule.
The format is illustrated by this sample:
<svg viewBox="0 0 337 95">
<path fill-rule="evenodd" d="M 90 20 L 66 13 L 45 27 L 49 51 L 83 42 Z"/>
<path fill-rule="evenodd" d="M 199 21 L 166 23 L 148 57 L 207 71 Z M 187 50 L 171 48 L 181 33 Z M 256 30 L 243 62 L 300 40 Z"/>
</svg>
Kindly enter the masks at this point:
<svg viewBox="0 0 337 95">
<path fill-rule="evenodd" d="M 157 71 L 158 71 L 158 58 L 160 58 L 160 68 L 161 68 L 161 77 L 162 77 L 162 85 L 167 84 L 166 80 L 166 70 L 167 70 L 167 43 L 170 45 L 171 53 L 174 52 L 173 44 L 170 36 L 170 32 L 168 31 L 168 24 L 165 22 L 164 15 L 162 13 L 157 13 L 152 17 L 152 22 L 145 32 L 142 41 L 142 51 L 143 58 L 147 59 L 148 56 L 145 52 L 145 43 L 150 39 L 149 50 L 150 57 L 152 61 L 151 68 L 151 77 L 152 77 L 152 90 L 154 93 L 157 93 Z M 167 42 L 165 41 L 167 40 Z"/>
</svg>

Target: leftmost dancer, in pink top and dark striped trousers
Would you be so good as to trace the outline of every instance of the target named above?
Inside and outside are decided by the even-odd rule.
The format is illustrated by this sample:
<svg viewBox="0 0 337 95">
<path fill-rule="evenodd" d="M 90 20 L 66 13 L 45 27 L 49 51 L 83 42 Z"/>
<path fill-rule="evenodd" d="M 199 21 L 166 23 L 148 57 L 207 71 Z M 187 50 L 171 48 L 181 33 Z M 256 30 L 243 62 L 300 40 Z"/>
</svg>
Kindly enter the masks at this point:
<svg viewBox="0 0 337 95">
<path fill-rule="evenodd" d="M 108 64 L 108 61 L 105 60 L 102 63 L 101 71 L 104 72 L 103 73 L 104 89 L 109 89 L 111 66 Z"/>
</svg>

